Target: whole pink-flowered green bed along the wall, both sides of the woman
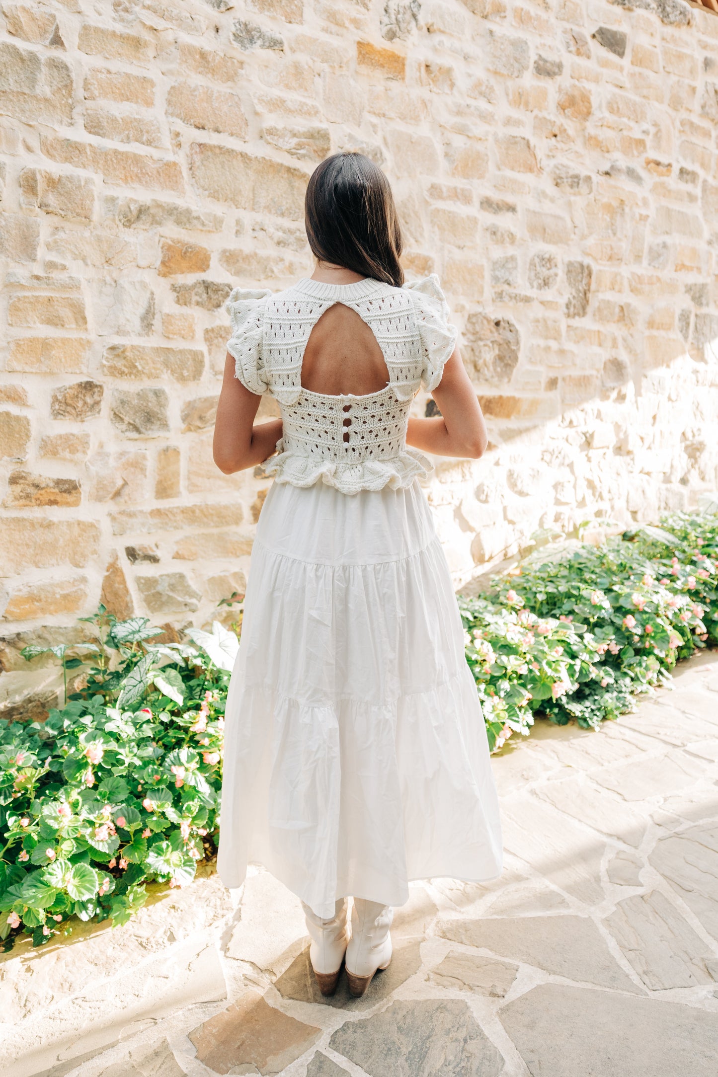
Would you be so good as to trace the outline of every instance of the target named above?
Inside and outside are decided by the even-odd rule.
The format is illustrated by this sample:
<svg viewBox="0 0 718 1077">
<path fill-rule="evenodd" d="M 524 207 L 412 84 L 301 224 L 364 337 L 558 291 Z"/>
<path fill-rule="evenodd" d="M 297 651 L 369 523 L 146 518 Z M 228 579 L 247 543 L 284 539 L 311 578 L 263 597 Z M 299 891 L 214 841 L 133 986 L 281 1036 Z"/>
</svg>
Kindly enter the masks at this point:
<svg viewBox="0 0 718 1077">
<path fill-rule="evenodd" d="M 597 726 L 718 642 L 718 516 L 674 515 L 606 546 L 532 559 L 461 600 L 489 741 L 537 714 Z M 215 851 L 222 732 L 237 635 L 215 621 L 158 642 L 100 607 L 87 643 L 52 648 L 83 687 L 45 723 L 0 730 L 0 940 L 42 945 L 73 917 L 124 923 L 158 880 Z M 26 648 L 31 660 L 42 652 Z"/>
</svg>

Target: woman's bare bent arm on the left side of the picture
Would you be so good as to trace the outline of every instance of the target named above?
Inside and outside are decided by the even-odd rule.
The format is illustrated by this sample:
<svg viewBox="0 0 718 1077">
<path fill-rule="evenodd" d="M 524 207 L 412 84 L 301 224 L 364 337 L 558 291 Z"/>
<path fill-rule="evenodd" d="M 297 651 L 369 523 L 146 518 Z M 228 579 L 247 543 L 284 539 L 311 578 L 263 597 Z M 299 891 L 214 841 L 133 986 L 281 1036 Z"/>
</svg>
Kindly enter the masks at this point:
<svg viewBox="0 0 718 1077">
<path fill-rule="evenodd" d="M 227 352 L 212 444 L 214 463 L 225 475 L 261 464 L 282 436 L 281 419 L 254 425 L 261 400 L 235 377 L 235 359 Z"/>
</svg>

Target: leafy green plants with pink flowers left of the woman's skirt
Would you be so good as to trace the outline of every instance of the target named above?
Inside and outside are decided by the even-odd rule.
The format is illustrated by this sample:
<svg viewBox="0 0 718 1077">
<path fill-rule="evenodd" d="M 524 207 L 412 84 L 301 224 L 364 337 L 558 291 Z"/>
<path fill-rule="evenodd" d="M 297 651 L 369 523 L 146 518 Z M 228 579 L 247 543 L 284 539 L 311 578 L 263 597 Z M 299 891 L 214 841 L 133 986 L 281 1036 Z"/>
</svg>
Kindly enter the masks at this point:
<svg viewBox="0 0 718 1077">
<path fill-rule="evenodd" d="M 68 655 L 93 656 L 82 690 L 44 723 L 0 727 L 5 949 L 20 931 L 45 942 L 70 917 L 124 923 L 147 882 L 189 882 L 214 852 L 236 635 L 216 624 L 193 633 L 200 647 L 156 644 L 146 618 L 87 619 L 91 642 L 54 652 L 66 677 L 82 663 Z"/>
</svg>

